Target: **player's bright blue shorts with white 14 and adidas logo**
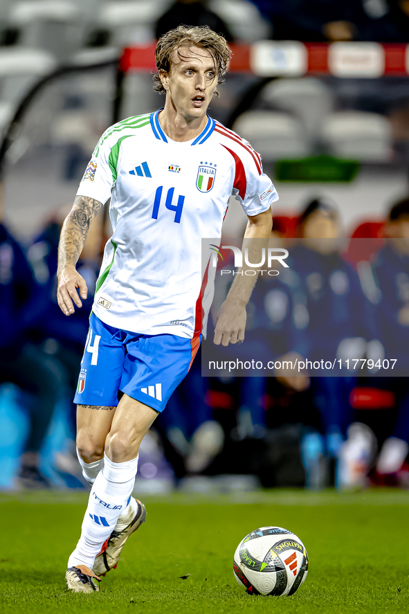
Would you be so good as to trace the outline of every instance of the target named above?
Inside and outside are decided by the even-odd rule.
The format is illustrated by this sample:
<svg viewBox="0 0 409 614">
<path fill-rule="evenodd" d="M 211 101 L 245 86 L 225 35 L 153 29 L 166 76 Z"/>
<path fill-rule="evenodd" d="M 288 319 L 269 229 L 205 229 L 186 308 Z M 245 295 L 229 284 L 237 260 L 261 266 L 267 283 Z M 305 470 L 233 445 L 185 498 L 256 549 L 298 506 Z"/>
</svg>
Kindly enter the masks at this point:
<svg viewBox="0 0 409 614">
<path fill-rule="evenodd" d="M 120 391 L 161 412 L 188 373 L 200 342 L 201 336 L 121 330 L 91 314 L 74 403 L 115 407 Z"/>
</svg>

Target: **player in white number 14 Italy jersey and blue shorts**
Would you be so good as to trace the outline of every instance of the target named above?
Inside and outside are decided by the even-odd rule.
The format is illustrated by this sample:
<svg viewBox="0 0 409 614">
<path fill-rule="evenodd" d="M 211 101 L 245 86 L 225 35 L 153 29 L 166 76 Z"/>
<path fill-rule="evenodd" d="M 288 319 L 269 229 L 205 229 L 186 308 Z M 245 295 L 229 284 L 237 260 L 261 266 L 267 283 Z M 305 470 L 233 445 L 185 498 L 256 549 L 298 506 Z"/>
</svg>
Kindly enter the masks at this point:
<svg viewBox="0 0 409 614">
<path fill-rule="evenodd" d="M 145 521 L 132 496 L 139 445 L 188 372 L 206 323 L 212 251 L 202 276 L 201 238 L 221 236 L 232 194 L 248 215 L 245 237 L 269 237 L 278 199 L 260 156 L 206 114 L 230 59 L 226 40 L 208 27 L 179 26 L 159 39 L 155 53 L 154 89 L 165 93 L 165 107 L 102 135 L 60 239 L 57 296 L 69 316 L 87 296 L 75 263 L 91 220 L 111 199 L 113 235 L 75 395 L 78 458 L 92 485 L 66 572 L 76 592 L 99 589 L 95 579 L 116 567 Z M 253 284 L 237 276 L 215 343 L 243 340 Z"/>
</svg>

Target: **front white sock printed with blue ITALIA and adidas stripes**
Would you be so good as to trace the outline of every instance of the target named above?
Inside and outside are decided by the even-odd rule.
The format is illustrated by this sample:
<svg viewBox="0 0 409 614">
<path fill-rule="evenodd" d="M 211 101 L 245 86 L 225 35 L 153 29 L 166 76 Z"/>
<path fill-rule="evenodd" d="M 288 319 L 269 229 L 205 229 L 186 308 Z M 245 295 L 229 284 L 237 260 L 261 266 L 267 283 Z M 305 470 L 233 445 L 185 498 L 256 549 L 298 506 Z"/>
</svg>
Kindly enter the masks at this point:
<svg viewBox="0 0 409 614">
<path fill-rule="evenodd" d="M 104 467 L 93 483 L 81 537 L 69 557 L 68 566 L 87 565 L 90 569 L 102 544 L 111 535 L 120 513 L 127 509 L 134 488 L 138 457 L 113 462 L 104 454 Z"/>
</svg>

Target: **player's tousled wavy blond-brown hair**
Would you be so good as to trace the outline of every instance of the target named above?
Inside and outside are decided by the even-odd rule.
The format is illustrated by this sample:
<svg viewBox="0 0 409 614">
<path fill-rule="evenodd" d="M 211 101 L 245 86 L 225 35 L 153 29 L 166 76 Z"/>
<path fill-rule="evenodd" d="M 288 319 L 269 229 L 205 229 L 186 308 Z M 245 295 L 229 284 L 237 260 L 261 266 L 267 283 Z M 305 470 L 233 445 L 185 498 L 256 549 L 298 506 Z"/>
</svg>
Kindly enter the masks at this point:
<svg viewBox="0 0 409 614">
<path fill-rule="evenodd" d="M 179 48 L 181 47 L 199 47 L 211 53 L 212 57 L 215 58 L 217 84 L 219 85 L 224 82 L 227 65 L 231 58 L 231 51 L 228 48 L 226 39 L 210 30 L 209 26 L 198 26 L 195 28 L 178 26 L 161 36 L 156 43 L 155 58 L 158 71 L 153 76 L 155 91 L 159 93 L 165 92 L 159 73 L 170 73 L 173 63 L 173 52 L 176 50 L 181 58 L 179 53 Z"/>
</svg>

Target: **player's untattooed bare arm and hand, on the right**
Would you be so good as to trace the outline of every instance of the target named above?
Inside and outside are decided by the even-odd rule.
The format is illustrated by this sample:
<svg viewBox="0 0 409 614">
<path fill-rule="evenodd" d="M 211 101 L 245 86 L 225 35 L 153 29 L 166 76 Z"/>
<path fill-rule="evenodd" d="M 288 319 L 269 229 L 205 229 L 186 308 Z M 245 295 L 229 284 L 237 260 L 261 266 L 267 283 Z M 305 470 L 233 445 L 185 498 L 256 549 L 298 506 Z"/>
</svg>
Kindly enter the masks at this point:
<svg viewBox="0 0 409 614">
<path fill-rule="evenodd" d="M 248 262 L 261 262 L 260 253 L 262 248 L 269 244 L 273 218 L 271 208 L 263 213 L 248 216 L 246 232 L 244 233 L 243 252 L 248 249 Z M 257 239 L 258 241 L 253 241 Z M 264 240 L 264 241 L 262 241 Z M 246 269 L 257 269 L 257 267 L 247 267 L 243 265 L 241 271 L 235 276 L 235 280 L 230 288 L 226 300 L 217 314 L 217 324 L 215 327 L 216 345 L 228 345 L 244 340 L 244 329 L 246 328 L 246 305 L 250 300 L 255 280 L 257 276 L 247 276 Z"/>
</svg>

